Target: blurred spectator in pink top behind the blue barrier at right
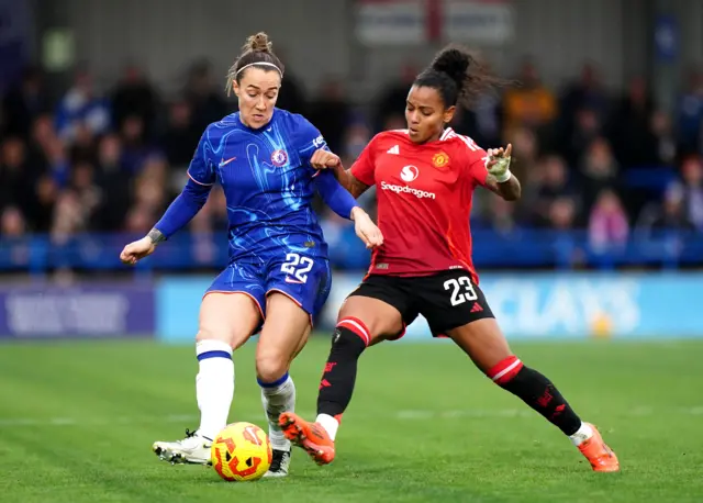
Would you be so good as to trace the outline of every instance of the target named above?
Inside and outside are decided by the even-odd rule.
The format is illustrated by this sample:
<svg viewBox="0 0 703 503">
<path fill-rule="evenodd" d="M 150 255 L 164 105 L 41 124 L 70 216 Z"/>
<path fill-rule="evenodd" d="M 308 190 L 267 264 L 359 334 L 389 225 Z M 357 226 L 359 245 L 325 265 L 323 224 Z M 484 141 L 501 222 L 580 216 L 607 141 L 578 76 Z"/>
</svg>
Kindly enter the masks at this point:
<svg viewBox="0 0 703 503">
<path fill-rule="evenodd" d="M 596 254 L 622 249 L 627 244 L 629 223 L 617 194 L 603 189 L 589 217 L 589 243 Z"/>
</svg>

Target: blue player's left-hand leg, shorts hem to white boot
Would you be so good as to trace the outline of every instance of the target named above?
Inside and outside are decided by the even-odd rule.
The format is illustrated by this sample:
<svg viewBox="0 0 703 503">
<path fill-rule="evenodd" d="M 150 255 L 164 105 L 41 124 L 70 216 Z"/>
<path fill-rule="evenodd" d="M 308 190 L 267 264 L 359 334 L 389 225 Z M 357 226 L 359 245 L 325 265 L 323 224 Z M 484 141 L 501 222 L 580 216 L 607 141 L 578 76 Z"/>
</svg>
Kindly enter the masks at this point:
<svg viewBox="0 0 703 503">
<path fill-rule="evenodd" d="M 153 449 L 163 460 L 210 462 L 212 439 L 226 426 L 234 394 L 232 353 L 249 338 L 263 317 L 259 303 L 264 289 L 253 288 L 250 281 L 238 283 L 236 279 L 237 275 L 226 269 L 202 300 L 196 337 L 200 426 L 194 433 L 187 431 L 182 440 L 155 443 Z"/>
</svg>

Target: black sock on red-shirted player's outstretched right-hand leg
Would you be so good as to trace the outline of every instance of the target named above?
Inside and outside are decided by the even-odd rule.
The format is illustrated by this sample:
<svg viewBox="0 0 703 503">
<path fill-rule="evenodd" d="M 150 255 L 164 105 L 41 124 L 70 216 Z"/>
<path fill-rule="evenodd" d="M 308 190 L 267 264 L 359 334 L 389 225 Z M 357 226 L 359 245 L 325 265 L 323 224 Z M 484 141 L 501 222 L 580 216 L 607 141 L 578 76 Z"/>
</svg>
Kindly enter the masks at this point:
<svg viewBox="0 0 703 503">
<path fill-rule="evenodd" d="M 513 367 L 513 364 L 516 365 Z M 506 359 L 503 367 L 506 368 L 507 366 L 513 367 L 511 371 L 502 376 L 491 376 L 489 373 L 489 377 L 498 385 L 510 391 L 545 416 L 549 423 L 561 429 L 566 435 L 573 435 L 581 427 L 581 420 L 549 379 L 536 370 L 523 366 L 515 357 Z"/>
</svg>

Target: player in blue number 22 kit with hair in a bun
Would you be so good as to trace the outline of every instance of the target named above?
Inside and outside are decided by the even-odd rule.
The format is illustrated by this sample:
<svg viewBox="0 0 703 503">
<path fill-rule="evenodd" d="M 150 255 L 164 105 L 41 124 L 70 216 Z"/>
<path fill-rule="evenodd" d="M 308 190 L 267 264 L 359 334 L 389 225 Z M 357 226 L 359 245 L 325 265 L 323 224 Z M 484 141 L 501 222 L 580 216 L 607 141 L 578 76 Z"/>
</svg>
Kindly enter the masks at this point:
<svg viewBox="0 0 703 503">
<path fill-rule="evenodd" d="M 230 264 L 208 289 L 196 337 L 196 393 L 200 427 L 154 451 L 171 462 L 210 462 L 212 439 L 226 425 L 234 394 L 232 353 L 260 327 L 257 380 L 269 421 L 274 459 L 268 476 L 284 477 L 290 443 L 278 416 L 293 411 L 295 387 L 288 370 L 304 346 L 312 318 L 330 293 L 327 245 L 311 208 L 316 189 L 325 203 L 353 220 L 368 247 L 382 235 L 332 171 L 317 171 L 326 149 L 320 132 L 301 115 L 275 108 L 283 65 L 265 33 L 250 36 L 232 66 L 227 91 L 239 112 L 210 124 L 188 169 L 190 180 L 144 238 L 125 246 L 125 264 L 150 255 L 202 208 L 211 187 L 222 186 L 230 221 Z"/>
</svg>

